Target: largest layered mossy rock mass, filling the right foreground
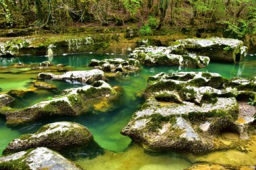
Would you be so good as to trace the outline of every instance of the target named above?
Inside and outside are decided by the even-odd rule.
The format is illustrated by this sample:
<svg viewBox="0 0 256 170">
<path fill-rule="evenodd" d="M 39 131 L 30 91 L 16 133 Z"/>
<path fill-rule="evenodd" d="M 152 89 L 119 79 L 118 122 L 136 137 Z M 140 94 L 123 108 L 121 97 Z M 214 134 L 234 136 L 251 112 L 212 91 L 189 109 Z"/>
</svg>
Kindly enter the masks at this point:
<svg viewBox="0 0 256 170">
<path fill-rule="evenodd" d="M 205 153 L 226 145 L 216 139 L 230 129 L 247 139 L 245 124 L 236 122 L 238 99 L 256 99 L 255 78 L 224 79 L 217 73 L 160 73 L 148 79 L 146 103 L 122 134 L 152 150 Z"/>
</svg>

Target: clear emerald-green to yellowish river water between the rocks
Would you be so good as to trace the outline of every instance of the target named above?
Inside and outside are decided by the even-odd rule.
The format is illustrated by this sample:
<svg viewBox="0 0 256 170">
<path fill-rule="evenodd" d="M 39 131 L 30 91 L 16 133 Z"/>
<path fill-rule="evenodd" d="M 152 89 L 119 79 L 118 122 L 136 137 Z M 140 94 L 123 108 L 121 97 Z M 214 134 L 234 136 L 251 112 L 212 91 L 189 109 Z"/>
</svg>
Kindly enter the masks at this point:
<svg viewBox="0 0 256 170">
<path fill-rule="evenodd" d="M 39 63 L 44 60 L 51 60 L 54 64 L 64 64 L 74 67 L 75 70 L 91 69 L 87 67 L 92 58 L 104 59 L 115 58 L 115 55 L 95 55 L 95 54 L 73 54 L 66 56 L 21 56 L 18 58 L 0 58 L 1 66 L 9 66 L 12 63 L 23 62 Z M 119 56 L 125 58 L 125 56 Z M 0 119 L 0 152 L 14 138 L 20 134 L 36 132 L 40 126 L 50 122 L 73 121 L 82 124 L 90 129 L 94 138 L 102 148 L 106 150 L 105 154 L 95 159 L 77 159 L 77 163 L 86 169 L 184 169 L 191 165 L 191 162 L 197 160 L 207 161 L 213 157 L 219 157 L 220 152 L 216 155 L 205 155 L 204 157 L 190 157 L 177 153 L 168 153 L 164 155 L 149 155 L 143 153 L 139 146 L 129 146 L 131 140 L 127 136 L 122 136 L 120 131 L 127 125 L 132 114 L 138 110 L 143 103 L 143 98 L 139 97 L 146 88 L 146 81 L 150 75 L 156 75 L 160 72 L 173 73 L 178 71 L 207 71 L 220 73 L 220 75 L 230 77 L 253 77 L 256 76 L 256 56 L 248 56 L 244 62 L 238 64 L 223 64 L 211 62 L 205 69 L 182 69 L 179 67 L 143 67 L 138 74 L 132 74 L 128 77 L 119 79 L 110 79 L 108 83 L 118 85 L 123 88 L 119 107 L 111 112 L 94 111 L 77 118 L 53 118 L 51 120 L 42 120 L 33 122 L 28 125 L 9 128 L 5 126 L 4 118 Z M 30 82 L 36 78 L 35 73 L 0 73 L 0 88 L 3 91 L 11 89 L 28 89 Z M 56 85 L 60 90 L 79 87 L 82 84 L 71 84 L 65 81 L 49 81 Z M 53 97 L 58 92 L 49 92 L 40 90 L 32 95 L 27 95 L 18 99 L 13 104 L 15 108 L 23 108 L 34 103 L 42 101 L 46 97 Z M 232 152 L 230 151 L 232 155 Z M 255 158 L 256 158 L 256 153 Z M 223 155 L 221 157 L 224 157 Z M 220 158 L 219 158 L 220 159 Z M 234 157 L 235 159 L 235 157 Z M 190 160 L 190 161 L 189 161 Z M 192 160 L 192 161 L 191 161 Z M 220 159 L 221 160 L 221 159 Z M 255 163 L 256 164 L 256 163 Z"/>
</svg>

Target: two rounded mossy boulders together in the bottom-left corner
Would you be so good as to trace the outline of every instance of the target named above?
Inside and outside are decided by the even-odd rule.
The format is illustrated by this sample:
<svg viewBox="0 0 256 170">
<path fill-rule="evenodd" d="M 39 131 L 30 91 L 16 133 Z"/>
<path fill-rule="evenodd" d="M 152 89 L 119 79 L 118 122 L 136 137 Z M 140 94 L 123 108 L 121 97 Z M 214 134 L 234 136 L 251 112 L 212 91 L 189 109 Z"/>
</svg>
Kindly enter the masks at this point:
<svg viewBox="0 0 256 170">
<path fill-rule="evenodd" d="M 92 150 L 92 147 L 94 150 Z M 100 154 L 90 131 L 73 122 L 55 122 L 42 126 L 34 134 L 24 134 L 8 144 L 0 157 L 0 169 L 81 169 L 55 151 L 64 153 L 82 148 L 87 156 Z M 99 152 L 100 151 L 100 152 Z"/>
</svg>

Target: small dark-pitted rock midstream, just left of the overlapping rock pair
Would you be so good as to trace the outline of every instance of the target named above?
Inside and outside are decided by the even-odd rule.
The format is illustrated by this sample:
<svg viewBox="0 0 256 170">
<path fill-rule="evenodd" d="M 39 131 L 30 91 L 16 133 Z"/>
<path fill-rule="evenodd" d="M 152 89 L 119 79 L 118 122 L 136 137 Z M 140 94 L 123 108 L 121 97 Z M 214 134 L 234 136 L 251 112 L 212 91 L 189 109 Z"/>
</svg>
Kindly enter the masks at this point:
<svg viewBox="0 0 256 170">
<path fill-rule="evenodd" d="M 90 67 L 94 69 L 100 69 L 105 72 L 123 72 L 123 73 L 132 73 L 139 71 L 139 60 L 133 58 L 128 58 L 126 60 L 122 58 L 115 59 L 105 59 L 105 60 L 96 60 L 93 59 L 90 61 Z"/>
</svg>

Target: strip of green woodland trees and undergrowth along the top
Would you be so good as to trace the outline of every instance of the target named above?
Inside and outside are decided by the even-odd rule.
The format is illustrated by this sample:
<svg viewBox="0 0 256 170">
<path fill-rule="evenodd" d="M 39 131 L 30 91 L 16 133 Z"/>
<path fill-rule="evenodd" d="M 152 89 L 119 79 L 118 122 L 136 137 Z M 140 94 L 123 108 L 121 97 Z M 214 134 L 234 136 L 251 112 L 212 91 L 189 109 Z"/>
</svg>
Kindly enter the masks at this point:
<svg viewBox="0 0 256 170">
<path fill-rule="evenodd" d="M 256 0 L 0 0 L 0 29 L 137 26 L 141 35 L 170 28 L 223 28 L 232 38 L 256 33 Z"/>
</svg>

